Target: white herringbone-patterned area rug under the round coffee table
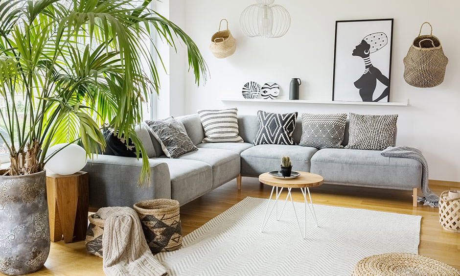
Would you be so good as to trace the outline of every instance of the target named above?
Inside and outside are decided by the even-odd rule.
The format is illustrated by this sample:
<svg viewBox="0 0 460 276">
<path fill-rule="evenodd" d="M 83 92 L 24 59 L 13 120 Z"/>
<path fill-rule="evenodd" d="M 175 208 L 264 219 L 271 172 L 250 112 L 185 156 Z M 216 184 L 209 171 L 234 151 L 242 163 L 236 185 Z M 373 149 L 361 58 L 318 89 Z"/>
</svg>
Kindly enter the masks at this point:
<svg viewBox="0 0 460 276">
<path fill-rule="evenodd" d="M 421 216 L 315 205 L 319 227 L 308 211 L 303 240 L 290 202 L 260 232 L 267 203 L 245 198 L 186 235 L 182 249 L 157 254 L 159 261 L 171 276 L 349 276 L 364 257 L 418 253 Z M 304 204 L 295 206 L 303 231 Z"/>
</svg>

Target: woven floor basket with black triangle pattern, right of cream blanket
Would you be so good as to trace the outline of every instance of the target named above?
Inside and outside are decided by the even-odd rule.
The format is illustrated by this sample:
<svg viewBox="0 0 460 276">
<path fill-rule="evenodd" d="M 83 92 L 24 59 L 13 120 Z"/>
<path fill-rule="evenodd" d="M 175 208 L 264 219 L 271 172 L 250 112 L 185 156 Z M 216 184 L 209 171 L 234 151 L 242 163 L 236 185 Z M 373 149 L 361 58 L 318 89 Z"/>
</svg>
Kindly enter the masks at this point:
<svg viewBox="0 0 460 276">
<path fill-rule="evenodd" d="M 181 248 L 182 226 L 177 200 L 141 201 L 134 205 L 134 209 L 139 215 L 145 239 L 152 253 Z"/>
</svg>

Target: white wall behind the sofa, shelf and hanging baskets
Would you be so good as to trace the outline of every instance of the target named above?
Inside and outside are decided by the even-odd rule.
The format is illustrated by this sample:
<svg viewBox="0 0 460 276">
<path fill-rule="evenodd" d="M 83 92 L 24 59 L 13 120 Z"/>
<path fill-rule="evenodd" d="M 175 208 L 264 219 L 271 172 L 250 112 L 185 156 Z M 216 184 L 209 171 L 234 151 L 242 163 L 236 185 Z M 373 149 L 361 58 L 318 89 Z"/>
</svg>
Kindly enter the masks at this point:
<svg viewBox="0 0 460 276">
<path fill-rule="evenodd" d="M 176 0 L 171 0 L 174 2 Z M 197 88 L 191 73 L 185 73 L 183 114 L 197 109 L 237 106 L 240 114 L 298 111 L 310 113 L 354 112 L 399 114 L 399 145 L 417 147 L 430 164 L 430 179 L 460 181 L 460 32 L 458 0 L 276 0 L 291 14 L 289 32 L 279 39 L 248 38 L 239 27 L 243 9 L 250 0 L 186 0 L 185 31 L 197 43 L 209 66 L 210 80 Z M 181 12 L 179 10 L 179 12 Z M 237 40 L 236 53 L 218 60 L 209 52 L 211 35 L 226 18 Z M 325 104 L 224 103 L 223 98 L 241 97 L 247 81 L 277 82 L 280 98 L 288 98 L 292 77 L 302 79 L 300 99 L 330 100 L 336 20 L 394 18 L 391 70 L 391 101 L 409 98 L 407 107 Z M 429 21 L 450 59 L 443 84 L 417 89 L 405 83 L 402 59 L 420 24 Z M 178 61 L 185 64 L 185 60 Z M 186 69 L 187 67 L 185 67 Z M 171 74 L 182 80 L 183 76 Z"/>
</svg>

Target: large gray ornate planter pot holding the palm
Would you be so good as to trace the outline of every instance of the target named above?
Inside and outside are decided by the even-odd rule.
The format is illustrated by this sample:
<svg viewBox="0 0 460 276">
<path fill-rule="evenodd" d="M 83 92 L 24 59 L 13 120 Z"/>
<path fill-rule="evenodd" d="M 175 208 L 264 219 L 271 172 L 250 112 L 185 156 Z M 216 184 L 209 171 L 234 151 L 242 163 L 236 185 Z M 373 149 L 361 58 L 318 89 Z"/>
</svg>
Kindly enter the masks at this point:
<svg viewBox="0 0 460 276">
<path fill-rule="evenodd" d="M 39 270 L 49 244 L 46 172 L 0 176 L 0 272 L 23 275 Z"/>
</svg>

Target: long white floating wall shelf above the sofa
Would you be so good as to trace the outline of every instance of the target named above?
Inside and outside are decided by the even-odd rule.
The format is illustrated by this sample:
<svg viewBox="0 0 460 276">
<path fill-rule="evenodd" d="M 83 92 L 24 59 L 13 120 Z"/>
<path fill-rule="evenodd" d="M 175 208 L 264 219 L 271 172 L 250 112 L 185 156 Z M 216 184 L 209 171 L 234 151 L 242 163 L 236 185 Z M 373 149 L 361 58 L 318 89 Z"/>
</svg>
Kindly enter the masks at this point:
<svg viewBox="0 0 460 276">
<path fill-rule="evenodd" d="M 402 102 L 345 102 L 345 101 L 315 101 L 315 100 L 286 100 L 286 99 L 223 99 L 223 102 L 263 102 L 263 103 L 302 103 L 302 104 L 351 104 L 351 105 L 386 105 L 386 106 L 408 106 L 406 99 Z"/>
</svg>

